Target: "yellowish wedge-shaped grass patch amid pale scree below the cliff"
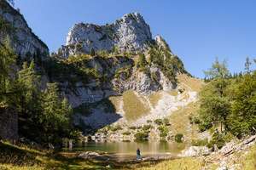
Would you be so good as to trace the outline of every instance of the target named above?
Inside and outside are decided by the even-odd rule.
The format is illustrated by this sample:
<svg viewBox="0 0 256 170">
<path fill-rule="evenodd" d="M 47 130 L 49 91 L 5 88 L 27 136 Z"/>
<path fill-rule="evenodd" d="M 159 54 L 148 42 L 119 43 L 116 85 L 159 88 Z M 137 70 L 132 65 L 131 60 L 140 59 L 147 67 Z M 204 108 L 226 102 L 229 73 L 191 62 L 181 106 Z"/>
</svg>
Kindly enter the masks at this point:
<svg viewBox="0 0 256 170">
<path fill-rule="evenodd" d="M 123 94 L 125 118 L 128 121 L 137 120 L 150 111 L 146 99 L 138 97 L 135 92 L 129 90 Z"/>
</svg>

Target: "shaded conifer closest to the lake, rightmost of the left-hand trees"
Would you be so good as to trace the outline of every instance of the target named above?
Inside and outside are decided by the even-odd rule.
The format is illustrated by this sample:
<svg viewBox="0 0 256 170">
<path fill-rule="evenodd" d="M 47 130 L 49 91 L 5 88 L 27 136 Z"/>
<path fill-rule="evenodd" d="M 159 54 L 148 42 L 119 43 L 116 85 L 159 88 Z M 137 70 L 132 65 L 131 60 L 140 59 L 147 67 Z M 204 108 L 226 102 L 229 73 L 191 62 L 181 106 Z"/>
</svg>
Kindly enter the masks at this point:
<svg viewBox="0 0 256 170">
<path fill-rule="evenodd" d="M 51 143 L 59 143 L 61 138 L 67 137 L 72 131 L 70 127 L 71 107 L 67 99 L 61 99 L 58 95 L 56 83 L 48 83 L 47 89 L 42 95 L 42 116 L 39 122 L 44 128 L 44 140 Z"/>
</svg>

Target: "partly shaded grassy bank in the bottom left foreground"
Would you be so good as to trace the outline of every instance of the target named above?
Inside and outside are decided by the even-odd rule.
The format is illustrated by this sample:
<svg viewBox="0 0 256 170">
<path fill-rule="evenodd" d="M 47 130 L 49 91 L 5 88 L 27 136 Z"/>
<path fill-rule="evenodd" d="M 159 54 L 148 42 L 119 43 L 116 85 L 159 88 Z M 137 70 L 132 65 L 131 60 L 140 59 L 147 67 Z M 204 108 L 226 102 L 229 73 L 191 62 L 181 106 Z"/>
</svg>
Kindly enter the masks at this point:
<svg viewBox="0 0 256 170">
<path fill-rule="evenodd" d="M 125 167 L 115 161 L 96 161 L 77 158 L 75 153 L 52 152 L 49 150 L 33 150 L 27 146 L 17 146 L 0 142 L 0 169 L 114 169 Z"/>
</svg>

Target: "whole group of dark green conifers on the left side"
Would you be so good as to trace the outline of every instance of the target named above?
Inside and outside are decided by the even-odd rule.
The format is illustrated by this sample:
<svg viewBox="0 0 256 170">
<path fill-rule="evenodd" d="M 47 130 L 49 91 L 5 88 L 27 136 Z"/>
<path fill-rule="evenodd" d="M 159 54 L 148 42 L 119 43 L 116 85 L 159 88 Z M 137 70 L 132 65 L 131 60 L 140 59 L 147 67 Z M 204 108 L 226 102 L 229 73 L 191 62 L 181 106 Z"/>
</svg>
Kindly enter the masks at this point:
<svg viewBox="0 0 256 170">
<path fill-rule="evenodd" d="M 20 60 L 22 61 L 22 60 Z M 61 144 L 62 138 L 73 138 L 72 108 L 61 100 L 56 84 L 42 92 L 40 76 L 32 60 L 14 71 L 15 54 L 8 41 L 0 46 L 0 104 L 19 114 L 20 136 L 40 144 Z"/>
</svg>

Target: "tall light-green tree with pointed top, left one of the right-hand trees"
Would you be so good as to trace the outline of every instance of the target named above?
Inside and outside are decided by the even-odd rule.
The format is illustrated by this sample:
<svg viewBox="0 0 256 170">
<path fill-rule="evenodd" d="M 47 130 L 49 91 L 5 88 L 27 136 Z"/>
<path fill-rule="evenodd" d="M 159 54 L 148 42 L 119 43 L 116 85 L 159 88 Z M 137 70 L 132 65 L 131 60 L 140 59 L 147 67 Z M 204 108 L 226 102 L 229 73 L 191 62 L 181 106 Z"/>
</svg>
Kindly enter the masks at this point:
<svg viewBox="0 0 256 170">
<path fill-rule="evenodd" d="M 205 72 L 207 77 L 212 78 L 212 81 L 202 89 L 200 94 L 200 129 L 205 130 L 213 125 L 218 126 L 220 124 L 222 131 L 230 113 L 230 99 L 227 93 L 230 82 L 226 79 L 229 71 L 225 62 L 219 63 L 216 60 L 212 64 L 212 68 Z"/>
</svg>

